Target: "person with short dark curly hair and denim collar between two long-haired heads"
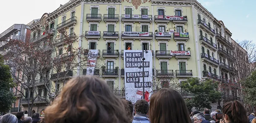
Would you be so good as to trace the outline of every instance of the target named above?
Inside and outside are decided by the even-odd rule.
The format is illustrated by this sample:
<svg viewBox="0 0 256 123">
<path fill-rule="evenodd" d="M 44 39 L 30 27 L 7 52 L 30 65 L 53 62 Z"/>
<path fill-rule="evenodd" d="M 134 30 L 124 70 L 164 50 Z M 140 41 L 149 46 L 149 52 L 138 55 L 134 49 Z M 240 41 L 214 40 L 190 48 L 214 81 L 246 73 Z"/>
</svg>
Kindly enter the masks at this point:
<svg viewBox="0 0 256 123">
<path fill-rule="evenodd" d="M 134 105 L 134 109 L 135 116 L 133 118 L 132 123 L 150 123 L 149 119 L 147 118 L 149 105 L 146 100 L 138 100 Z"/>
</svg>

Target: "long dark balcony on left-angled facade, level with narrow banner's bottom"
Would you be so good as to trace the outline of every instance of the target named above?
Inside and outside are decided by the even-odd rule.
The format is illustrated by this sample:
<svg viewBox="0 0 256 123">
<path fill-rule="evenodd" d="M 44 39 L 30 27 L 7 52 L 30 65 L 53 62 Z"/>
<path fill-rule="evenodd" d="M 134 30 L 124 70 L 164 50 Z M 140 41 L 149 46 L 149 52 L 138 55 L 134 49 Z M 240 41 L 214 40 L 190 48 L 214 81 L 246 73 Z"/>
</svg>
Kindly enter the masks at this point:
<svg viewBox="0 0 256 123">
<path fill-rule="evenodd" d="M 54 73 L 51 76 L 51 81 L 56 81 L 56 80 L 61 80 L 61 79 L 69 79 L 73 77 L 73 70 L 69 70 L 69 71 L 63 71 L 60 73 Z"/>
</svg>

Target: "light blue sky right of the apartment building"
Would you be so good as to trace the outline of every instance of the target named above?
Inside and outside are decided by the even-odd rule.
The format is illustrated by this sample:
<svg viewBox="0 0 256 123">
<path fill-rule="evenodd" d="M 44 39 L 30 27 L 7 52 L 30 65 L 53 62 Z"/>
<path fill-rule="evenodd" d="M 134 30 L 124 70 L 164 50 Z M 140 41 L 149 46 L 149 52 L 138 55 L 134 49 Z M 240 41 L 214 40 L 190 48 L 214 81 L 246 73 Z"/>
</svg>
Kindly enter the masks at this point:
<svg viewBox="0 0 256 123">
<path fill-rule="evenodd" d="M 215 18 L 224 22 L 234 40 L 256 43 L 256 0 L 197 0 Z"/>
</svg>

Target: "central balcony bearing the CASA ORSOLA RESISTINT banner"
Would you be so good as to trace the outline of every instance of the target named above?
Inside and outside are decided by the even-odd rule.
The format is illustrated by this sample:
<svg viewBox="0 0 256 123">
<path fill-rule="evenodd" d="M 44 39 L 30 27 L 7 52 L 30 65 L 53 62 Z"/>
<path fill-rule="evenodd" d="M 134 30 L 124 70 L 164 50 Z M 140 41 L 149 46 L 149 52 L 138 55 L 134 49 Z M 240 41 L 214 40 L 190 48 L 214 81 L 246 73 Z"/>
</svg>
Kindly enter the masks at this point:
<svg viewBox="0 0 256 123">
<path fill-rule="evenodd" d="M 153 39 L 153 32 L 124 32 L 122 31 L 122 36 L 121 38 L 124 39 L 146 39 L 146 40 L 151 40 Z"/>
</svg>

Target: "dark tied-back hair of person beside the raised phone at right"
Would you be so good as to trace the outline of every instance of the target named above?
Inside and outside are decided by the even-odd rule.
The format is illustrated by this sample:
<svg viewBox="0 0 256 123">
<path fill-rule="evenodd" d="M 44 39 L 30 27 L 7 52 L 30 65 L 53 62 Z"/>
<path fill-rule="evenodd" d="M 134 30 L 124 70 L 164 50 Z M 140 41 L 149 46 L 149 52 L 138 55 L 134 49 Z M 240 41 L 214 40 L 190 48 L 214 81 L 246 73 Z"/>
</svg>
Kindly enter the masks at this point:
<svg viewBox="0 0 256 123">
<path fill-rule="evenodd" d="M 240 101 L 229 101 L 223 105 L 223 114 L 228 115 L 232 123 L 247 123 L 246 109 Z"/>
</svg>

